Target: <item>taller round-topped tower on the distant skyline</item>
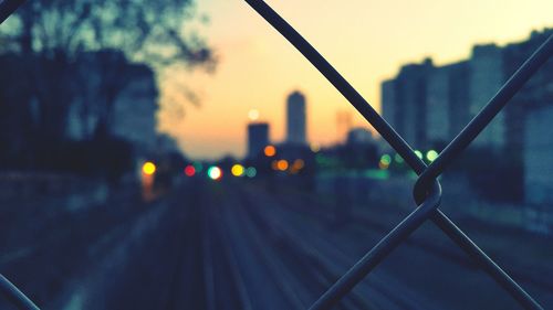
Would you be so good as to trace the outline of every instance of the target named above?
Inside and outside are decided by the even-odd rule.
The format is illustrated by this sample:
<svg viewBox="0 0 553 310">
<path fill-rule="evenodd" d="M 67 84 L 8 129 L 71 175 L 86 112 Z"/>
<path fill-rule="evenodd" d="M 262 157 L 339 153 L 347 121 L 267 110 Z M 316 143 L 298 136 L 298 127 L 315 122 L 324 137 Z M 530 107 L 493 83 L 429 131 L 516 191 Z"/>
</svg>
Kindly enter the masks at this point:
<svg viewBox="0 0 553 310">
<path fill-rule="evenodd" d="M 300 92 L 290 94 L 286 103 L 286 142 L 306 145 L 305 96 Z"/>
</svg>

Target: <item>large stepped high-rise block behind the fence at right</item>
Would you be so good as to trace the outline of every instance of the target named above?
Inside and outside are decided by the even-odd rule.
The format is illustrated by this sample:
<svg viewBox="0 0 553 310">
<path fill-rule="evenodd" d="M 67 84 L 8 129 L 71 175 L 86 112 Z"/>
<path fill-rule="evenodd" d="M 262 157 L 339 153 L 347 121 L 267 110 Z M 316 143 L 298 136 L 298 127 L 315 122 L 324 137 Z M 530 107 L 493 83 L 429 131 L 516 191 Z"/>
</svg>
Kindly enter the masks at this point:
<svg viewBox="0 0 553 310">
<path fill-rule="evenodd" d="M 550 29 L 533 32 L 529 40 L 507 46 L 477 45 L 470 58 L 445 66 L 429 61 L 404 65 L 397 76 L 382 84 L 384 118 L 415 148 L 444 147 L 551 33 Z M 545 66 L 476 138 L 476 147 L 521 154 L 524 114 L 529 105 L 549 98 L 552 71 Z"/>
</svg>

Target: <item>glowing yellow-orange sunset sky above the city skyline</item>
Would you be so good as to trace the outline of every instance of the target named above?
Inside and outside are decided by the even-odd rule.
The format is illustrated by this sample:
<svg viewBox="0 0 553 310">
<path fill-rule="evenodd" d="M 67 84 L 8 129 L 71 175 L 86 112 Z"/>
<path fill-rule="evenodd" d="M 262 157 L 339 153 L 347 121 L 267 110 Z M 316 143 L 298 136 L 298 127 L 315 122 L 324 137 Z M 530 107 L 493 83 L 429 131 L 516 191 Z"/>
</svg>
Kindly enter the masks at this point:
<svg viewBox="0 0 553 310">
<path fill-rule="evenodd" d="M 551 0 L 271 0 L 267 1 L 302 33 L 377 109 L 379 84 L 400 65 L 427 56 L 435 64 L 466 58 L 472 45 L 524 40 L 532 30 L 553 26 Z M 338 139 L 336 113 L 349 104 L 275 30 L 241 0 L 200 0 L 197 11 L 210 22 L 200 32 L 215 47 L 215 74 L 188 73 L 181 81 L 201 97 L 184 104 L 186 116 L 159 114 L 159 130 L 176 137 L 192 158 L 243 156 L 248 111 L 271 124 L 271 140 L 284 136 L 286 95 L 307 98 L 309 140 Z"/>
</svg>

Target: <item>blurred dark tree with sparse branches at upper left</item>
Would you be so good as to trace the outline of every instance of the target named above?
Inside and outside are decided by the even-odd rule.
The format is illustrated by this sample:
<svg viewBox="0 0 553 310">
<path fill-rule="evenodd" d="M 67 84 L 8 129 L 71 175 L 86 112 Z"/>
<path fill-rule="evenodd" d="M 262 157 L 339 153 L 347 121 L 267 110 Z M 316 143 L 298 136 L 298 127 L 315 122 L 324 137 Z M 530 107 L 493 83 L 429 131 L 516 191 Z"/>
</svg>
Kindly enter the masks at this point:
<svg viewBox="0 0 553 310">
<path fill-rule="evenodd" d="M 75 62 L 83 53 L 118 50 L 158 72 L 169 66 L 211 71 L 212 51 L 189 29 L 195 19 L 192 0 L 28 1 L 0 29 L 0 49 L 30 60 L 24 70 L 40 104 L 42 133 L 61 137 L 79 95 Z M 98 92 L 111 107 L 128 79 L 117 75 L 113 60 L 103 61 L 106 79 Z"/>
</svg>

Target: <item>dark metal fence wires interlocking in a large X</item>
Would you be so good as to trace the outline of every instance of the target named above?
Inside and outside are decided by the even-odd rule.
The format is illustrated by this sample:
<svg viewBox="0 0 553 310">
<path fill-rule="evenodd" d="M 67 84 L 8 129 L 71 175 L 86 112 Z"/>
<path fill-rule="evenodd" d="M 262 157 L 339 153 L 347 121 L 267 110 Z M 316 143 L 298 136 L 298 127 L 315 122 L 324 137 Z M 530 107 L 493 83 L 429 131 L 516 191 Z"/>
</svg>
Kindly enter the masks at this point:
<svg viewBox="0 0 553 310">
<path fill-rule="evenodd" d="M 524 309 L 543 309 L 528 295 L 509 275 L 486 255 L 455 223 L 440 210 L 439 199 L 432 200 L 441 192 L 435 188 L 439 183 L 437 177 L 470 142 L 486 128 L 509 99 L 520 90 L 524 83 L 542 66 L 552 54 L 551 38 L 524 63 L 509 79 L 482 111 L 453 139 L 438 159 L 427 168 L 405 140 L 368 105 L 368 103 L 351 86 L 334 67 L 298 33 L 284 19 L 262 0 L 244 0 L 274 29 L 276 29 L 294 47 L 296 47 L 336 89 L 373 125 L 380 136 L 405 159 L 411 169 L 419 174 L 414 195 L 417 204 L 421 204 L 406 220 L 399 223 L 353 268 L 335 282 L 310 309 L 330 309 L 337 303 L 353 287 L 380 263 L 387 254 L 404 242 L 426 220 L 431 220 L 463 252 L 466 252 L 480 268 L 489 274 L 505 289 Z M 434 167 L 434 168 L 432 168 Z M 432 183 L 431 188 L 429 184 Z M 430 210 L 432 212 L 426 212 Z"/>
</svg>

